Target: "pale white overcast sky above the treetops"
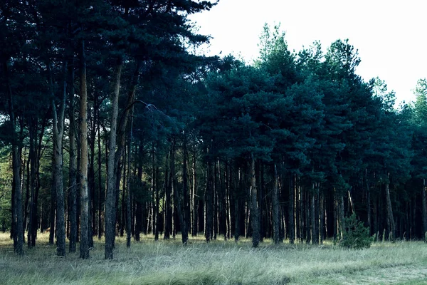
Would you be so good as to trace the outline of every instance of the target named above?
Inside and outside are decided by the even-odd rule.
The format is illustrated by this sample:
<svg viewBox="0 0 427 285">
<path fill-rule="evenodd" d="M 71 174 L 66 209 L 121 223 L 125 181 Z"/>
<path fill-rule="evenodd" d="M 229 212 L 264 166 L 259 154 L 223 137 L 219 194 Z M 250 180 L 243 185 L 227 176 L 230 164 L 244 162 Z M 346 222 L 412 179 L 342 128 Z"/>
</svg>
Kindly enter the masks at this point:
<svg viewBox="0 0 427 285">
<path fill-rule="evenodd" d="M 212 36 L 208 55 L 230 53 L 251 63 L 265 23 L 280 23 L 290 51 L 320 41 L 322 48 L 349 39 L 362 62 L 365 81 L 378 76 L 397 102 L 414 100 L 416 81 L 427 77 L 425 0 L 220 0 L 211 11 L 191 16 L 199 33 Z"/>
</svg>

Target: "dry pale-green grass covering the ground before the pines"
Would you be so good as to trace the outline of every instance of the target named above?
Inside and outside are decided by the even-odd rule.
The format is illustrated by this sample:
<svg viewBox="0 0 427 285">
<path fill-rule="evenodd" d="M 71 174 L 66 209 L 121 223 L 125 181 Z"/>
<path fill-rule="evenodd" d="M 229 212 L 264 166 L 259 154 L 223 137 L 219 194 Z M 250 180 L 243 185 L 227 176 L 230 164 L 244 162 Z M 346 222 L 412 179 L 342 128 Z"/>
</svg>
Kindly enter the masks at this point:
<svg viewBox="0 0 427 285">
<path fill-rule="evenodd" d="M 118 238 L 115 259 L 104 259 L 95 240 L 90 259 L 78 252 L 56 257 L 48 234 L 38 246 L 13 252 L 8 233 L 0 233 L 0 284 L 427 284 L 427 244 L 377 242 L 349 250 L 325 242 L 251 247 L 250 239 L 206 244 L 202 237 L 182 246 L 180 239 L 155 242 L 151 236 L 126 247 Z"/>
</svg>

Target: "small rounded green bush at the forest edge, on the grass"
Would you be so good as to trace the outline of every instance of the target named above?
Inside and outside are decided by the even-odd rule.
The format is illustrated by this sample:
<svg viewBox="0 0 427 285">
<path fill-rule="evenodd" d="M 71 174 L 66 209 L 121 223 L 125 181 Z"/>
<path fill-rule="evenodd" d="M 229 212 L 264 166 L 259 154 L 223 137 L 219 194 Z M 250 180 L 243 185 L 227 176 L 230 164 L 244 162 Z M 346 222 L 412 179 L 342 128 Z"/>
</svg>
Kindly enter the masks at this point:
<svg viewBox="0 0 427 285">
<path fill-rule="evenodd" d="M 369 228 L 352 214 L 345 219 L 345 232 L 339 246 L 349 249 L 368 249 L 371 247 L 372 238 L 369 237 Z"/>
</svg>

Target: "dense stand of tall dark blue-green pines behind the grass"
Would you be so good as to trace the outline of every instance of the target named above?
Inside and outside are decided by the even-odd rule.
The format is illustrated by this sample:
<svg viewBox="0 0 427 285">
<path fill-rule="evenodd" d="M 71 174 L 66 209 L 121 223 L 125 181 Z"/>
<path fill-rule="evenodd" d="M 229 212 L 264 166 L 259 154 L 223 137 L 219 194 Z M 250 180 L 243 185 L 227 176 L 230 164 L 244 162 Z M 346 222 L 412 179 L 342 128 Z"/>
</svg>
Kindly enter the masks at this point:
<svg viewBox="0 0 427 285">
<path fill-rule="evenodd" d="M 275 244 L 427 232 L 427 81 L 395 108 L 349 41 L 289 51 L 265 26 L 251 65 L 196 56 L 209 1 L 0 4 L 0 227 L 57 254 L 105 236 Z"/>
</svg>

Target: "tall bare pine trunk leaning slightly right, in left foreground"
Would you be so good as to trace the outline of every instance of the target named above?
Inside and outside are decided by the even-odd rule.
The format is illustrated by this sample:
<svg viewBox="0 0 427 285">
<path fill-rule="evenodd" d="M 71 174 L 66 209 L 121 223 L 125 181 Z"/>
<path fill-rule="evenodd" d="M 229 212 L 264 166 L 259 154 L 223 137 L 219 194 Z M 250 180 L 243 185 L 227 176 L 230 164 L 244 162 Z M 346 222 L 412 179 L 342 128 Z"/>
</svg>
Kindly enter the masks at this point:
<svg viewBox="0 0 427 285">
<path fill-rule="evenodd" d="M 120 76 L 122 75 L 122 58 L 117 59 L 114 85 L 111 96 L 110 140 L 107 160 L 107 195 L 105 198 L 105 259 L 112 259 L 115 238 L 115 147 L 117 133 L 117 115 L 120 93 Z"/>
</svg>

